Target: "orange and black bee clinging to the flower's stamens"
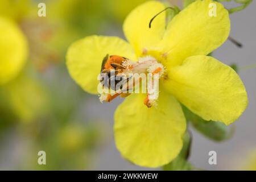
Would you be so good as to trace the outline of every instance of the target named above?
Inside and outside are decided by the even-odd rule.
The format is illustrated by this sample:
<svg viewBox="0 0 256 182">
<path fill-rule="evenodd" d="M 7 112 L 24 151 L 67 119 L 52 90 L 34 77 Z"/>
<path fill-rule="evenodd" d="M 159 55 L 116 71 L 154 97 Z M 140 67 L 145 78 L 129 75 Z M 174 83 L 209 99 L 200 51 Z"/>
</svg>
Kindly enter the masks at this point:
<svg viewBox="0 0 256 182">
<path fill-rule="evenodd" d="M 117 55 L 106 55 L 104 59 L 102 60 L 101 64 L 101 73 L 108 74 L 108 81 L 104 82 L 104 86 L 107 86 L 108 88 L 111 88 L 112 90 L 116 90 L 117 84 L 122 84 L 125 79 L 123 76 L 118 75 L 119 73 L 122 73 L 123 70 L 126 69 L 122 65 L 123 61 L 127 61 L 128 59 L 126 57 L 117 56 Z M 111 74 L 111 72 L 114 72 Z M 118 77 L 118 78 L 117 78 Z M 104 78 L 102 78 L 101 82 Z M 110 84 L 111 81 L 114 81 L 114 84 Z M 122 86 L 121 88 L 122 89 Z"/>
</svg>

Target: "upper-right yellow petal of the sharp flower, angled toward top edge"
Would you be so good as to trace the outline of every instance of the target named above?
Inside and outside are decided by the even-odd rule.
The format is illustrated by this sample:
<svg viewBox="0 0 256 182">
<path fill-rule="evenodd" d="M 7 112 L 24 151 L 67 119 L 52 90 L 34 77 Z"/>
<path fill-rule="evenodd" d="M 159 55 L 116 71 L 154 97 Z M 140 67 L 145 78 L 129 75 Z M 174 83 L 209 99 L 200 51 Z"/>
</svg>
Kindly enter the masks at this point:
<svg viewBox="0 0 256 182">
<path fill-rule="evenodd" d="M 210 16 L 215 5 L 216 16 Z M 160 43 L 166 65 L 181 64 L 189 56 L 208 55 L 225 42 L 229 31 L 229 14 L 221 3 L 211 0 L 192 3 L 167 26 Z"/>
</svg>

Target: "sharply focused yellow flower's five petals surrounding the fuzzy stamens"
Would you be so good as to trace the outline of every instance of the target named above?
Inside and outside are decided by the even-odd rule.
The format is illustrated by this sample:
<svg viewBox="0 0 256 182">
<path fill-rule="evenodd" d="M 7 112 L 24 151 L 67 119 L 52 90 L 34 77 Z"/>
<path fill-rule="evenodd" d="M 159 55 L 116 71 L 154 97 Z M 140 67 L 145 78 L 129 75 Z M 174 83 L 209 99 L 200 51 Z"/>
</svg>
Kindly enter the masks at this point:
<svg viewBox="0 0 256 182">
<path fill-rule="evenodd" d="M 209 16 L 209 3 L 217 16 Z M 232 68 L 206 56 L 228 38 L 230 20 L 221 3 L 196 1 L 166 26 L 157 1 L 138 6 L 127 16 L 123 31 L 129 43 L 117 37 L 88 36 L 69 47 L 67 67 L 86 92 L 97 94 L 97 76 L 106 54 L 151 56 L 166 68 L 160 78 L 157 107 L 143 105 L 145 94 L 131 94 L 115 111 L 115 143 L 122 156 L 144 167 L 170 163 L 183 146 L 186 121 L 179 102 L 205 120 L 234 122 L 247 106 L 245 87 Z M 179 102 L 178 102 L 179 101 Z"/>
</svg>

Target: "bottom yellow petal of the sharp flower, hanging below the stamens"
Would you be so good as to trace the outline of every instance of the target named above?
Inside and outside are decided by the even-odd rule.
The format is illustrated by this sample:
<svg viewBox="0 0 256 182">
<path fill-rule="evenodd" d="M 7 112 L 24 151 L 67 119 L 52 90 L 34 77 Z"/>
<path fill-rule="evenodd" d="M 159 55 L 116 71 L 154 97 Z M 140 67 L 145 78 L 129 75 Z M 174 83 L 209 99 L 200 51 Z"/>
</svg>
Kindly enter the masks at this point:
<svg viewBox="0 0 256 182">
<path fill-rule="evenodd" d="M 122 156 L 143 167 L 159 167 L 179 154 L 186 122 L 179 102 L 164 90 L 157 107 L 131 94 L 115 111 L 115 144 Z"/>
</svg>

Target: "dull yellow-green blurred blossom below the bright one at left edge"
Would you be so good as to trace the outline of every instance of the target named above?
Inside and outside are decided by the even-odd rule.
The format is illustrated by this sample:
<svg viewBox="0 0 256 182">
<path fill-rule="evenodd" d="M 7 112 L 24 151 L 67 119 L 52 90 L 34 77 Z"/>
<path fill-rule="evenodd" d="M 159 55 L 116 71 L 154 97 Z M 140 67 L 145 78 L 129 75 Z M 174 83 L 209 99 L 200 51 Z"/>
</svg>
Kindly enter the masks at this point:
<svg viewBox="0 0 256 182">
<path fill-rule="evenodd" d="M 10 109 L 20 121 L 31 122 L 46 113 L 47 93 L 35 78 L 22 74 L 2 89 Z"/>
</svg>

